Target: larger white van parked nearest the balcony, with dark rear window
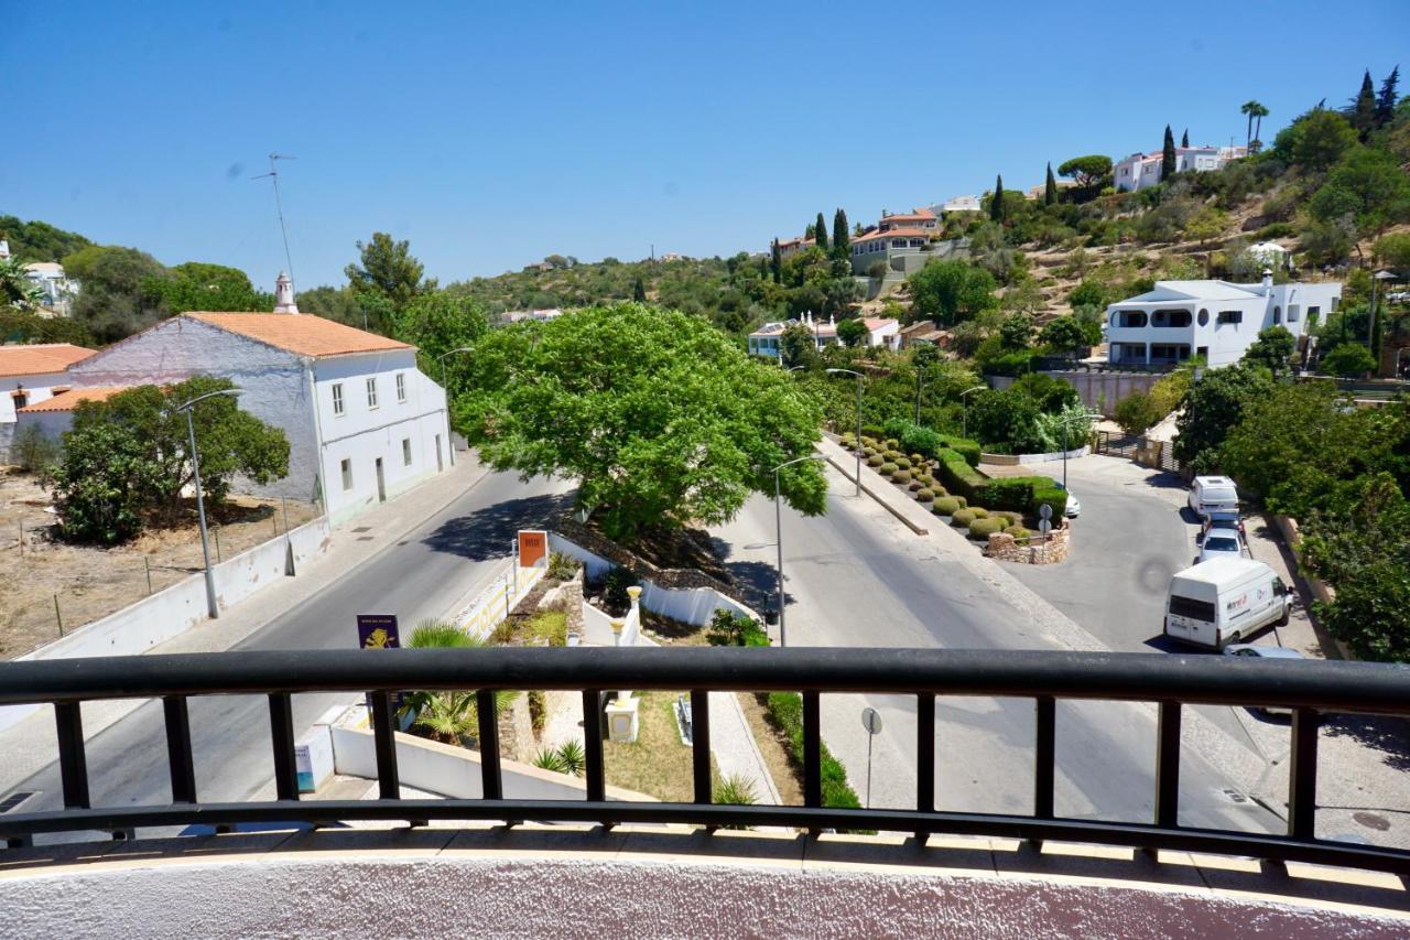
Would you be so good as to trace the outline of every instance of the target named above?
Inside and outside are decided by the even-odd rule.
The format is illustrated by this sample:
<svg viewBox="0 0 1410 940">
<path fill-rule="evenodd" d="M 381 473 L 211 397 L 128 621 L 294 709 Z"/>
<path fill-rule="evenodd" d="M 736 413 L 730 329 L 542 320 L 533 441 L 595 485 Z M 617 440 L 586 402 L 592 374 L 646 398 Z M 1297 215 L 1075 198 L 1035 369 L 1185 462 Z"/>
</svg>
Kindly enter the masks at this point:
<svg viewBox="0 0 1410 940">
<path fill-rule="evenodd" d="M 1200 562 L 1170 579 L 1165 635 L 1222 649 L 1269 624 L 1283 625 L 1293 598 L 1268 565 L 1246 558 Z"/>
</svg>

